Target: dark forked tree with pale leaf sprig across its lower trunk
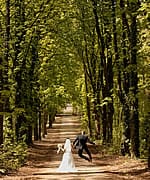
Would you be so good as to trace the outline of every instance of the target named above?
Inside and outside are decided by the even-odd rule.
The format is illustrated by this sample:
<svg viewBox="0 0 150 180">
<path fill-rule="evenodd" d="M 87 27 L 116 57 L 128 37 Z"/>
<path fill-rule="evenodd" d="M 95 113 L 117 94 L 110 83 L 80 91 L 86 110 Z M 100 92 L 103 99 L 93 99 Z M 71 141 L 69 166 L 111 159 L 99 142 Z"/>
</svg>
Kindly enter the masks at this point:
<svg viewBox="0 0 150 180">
<path fill-rule="evenodd" d="M 112 67 L 112 52 L 111 52 L 111 29 L 112 29 L 112 17 L 111 17 L 111 3 L 98 2 L 93 0 L 93 14 L 95 17 L 96 32 L 98 38 L 98 47 L 100 51 L 99 62 L 99 87 L 102 90 L 102 99 L 104 104 L 102 110 L 102 124 L 103 124 L 103 141 L 112 142 L 112 125 L 113 125 L 113 67 Z M 99 6 L 102 6 L 100 9 Z M 101 82 L 101 83 L 100 83 Z M 100 99 L 100 96 L 97 97 Z M 97 102 L 97 105 L 100 103 Z M 101 103 L 102 104 L 102 103 Z M 100 109 L 98 110 L 100 111 Z"/>
</svg>

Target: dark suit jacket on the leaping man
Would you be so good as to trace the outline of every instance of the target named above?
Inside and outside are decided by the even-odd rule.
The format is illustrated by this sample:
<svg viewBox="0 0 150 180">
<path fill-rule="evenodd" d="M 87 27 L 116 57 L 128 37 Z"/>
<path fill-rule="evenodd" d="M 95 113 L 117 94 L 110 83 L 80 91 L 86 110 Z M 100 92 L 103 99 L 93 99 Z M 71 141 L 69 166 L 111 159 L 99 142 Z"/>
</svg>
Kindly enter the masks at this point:
<svg viewBox="0 0 150 180">
<path fill-rule="evenodd" d="M 76 137 L 76 139 L 73 142 L 73 146 L 76 149 L 84 149 L 87 147 L 86 143 L 89 142 L 91 144 L 95 144 L 92 141 L 89 140 L 87 135 L 79 135 Z"/>
</svg>

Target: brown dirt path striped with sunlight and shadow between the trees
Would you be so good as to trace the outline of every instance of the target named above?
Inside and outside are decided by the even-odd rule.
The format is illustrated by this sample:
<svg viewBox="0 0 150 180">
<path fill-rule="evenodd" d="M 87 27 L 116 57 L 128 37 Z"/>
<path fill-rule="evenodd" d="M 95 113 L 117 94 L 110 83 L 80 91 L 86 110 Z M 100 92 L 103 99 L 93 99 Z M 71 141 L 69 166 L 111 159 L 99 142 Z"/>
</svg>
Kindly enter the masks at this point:
<svg viewBox="0 0 150 180">
<path fill-rule="evenodd" d="M 48 129 L 47 136 L 41 142 L 34 142 L 29 149 L 27 164 L 20 168 L 16 174 L 1 177 L 3 180 L 146 180 L 150 179 L 150 172 L 146 165 L 139 160 L 131 160 L 118 156 L 107 156 L 98 152 L 97 147 L 89 145 L 93 162 L 87 162 L 78 157 L 74 151 L 73 156 L 78 172 L 58 173 L 62 154 L 57 154 L 57 144 L 64 143 L 69 137 L 71 141 L 79 133 L 78 117 L 57 117 L 52 129 Z"/>
</svg>

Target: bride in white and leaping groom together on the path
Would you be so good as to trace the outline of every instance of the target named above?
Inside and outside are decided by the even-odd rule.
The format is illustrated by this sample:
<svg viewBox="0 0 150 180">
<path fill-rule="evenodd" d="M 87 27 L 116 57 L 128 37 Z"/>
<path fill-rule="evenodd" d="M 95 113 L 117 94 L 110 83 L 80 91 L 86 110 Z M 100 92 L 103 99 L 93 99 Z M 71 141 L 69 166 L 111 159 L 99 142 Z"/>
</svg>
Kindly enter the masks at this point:
<svg viewBox="0 0 150 180">
<path fill-rule="evenodd" d="M 89 162 L 92 162 L 92 156 L 87 147 L 87 142 L 89 142 L 91 144 L 95 144 L 92 141 L 90 141 L 88 136 L 85 135 L 85 132 L 82 131 L 81 134 L 78 135 L 76 137 L 76 139 L 74 140 L 73 148 L 78 150 L 78 155 L 81 158 L 83 158 Z M 73 159 L 73 155 L 72 155 L 72 145 L 71 145 L 71 141 L 69 138 L 66 139 L 64 148 L 62 148 L 61 145 L 58 147 L 57 153 L 59 153 L 60 150 L 62 150 L 64 152 L 64 154 L 63 154 L 63 158 L 60 163 L 60 166 L 58 168 L 58 171 L 59 172 L 76 172 L 77 170 L 75 168 L 75 163 L 74 163 L 74 159 Z M 83 150 L 85 150 L 85 152 L 88 154 L 89 157 L 83 155 Z"/>
</svg>

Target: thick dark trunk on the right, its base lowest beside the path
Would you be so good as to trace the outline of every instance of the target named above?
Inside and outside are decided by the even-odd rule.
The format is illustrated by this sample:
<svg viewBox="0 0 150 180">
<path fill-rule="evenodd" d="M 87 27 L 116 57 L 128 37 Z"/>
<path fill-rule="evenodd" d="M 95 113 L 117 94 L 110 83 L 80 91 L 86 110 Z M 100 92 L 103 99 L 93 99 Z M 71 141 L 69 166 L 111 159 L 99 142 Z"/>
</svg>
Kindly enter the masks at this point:
<svg viewBox="0 0 150 180">
<path fill-rule="evenodd" d="M 130 93 L 133 97 L 130 99 L 131 108 L 131 152 L 135 157 L 140 156 L 139 152 L 139 113 L 138 113 L 138 76 L 137 76 L 137 9 L 139 5 L 137 2 L 131 2 L 129 8 L 131 9 L 131 32 L 130 32 L 130 48 L 132 65 L 130 72 Z"/>
</svg>

